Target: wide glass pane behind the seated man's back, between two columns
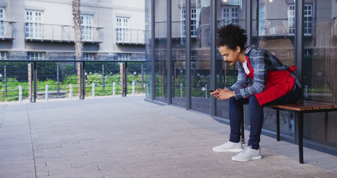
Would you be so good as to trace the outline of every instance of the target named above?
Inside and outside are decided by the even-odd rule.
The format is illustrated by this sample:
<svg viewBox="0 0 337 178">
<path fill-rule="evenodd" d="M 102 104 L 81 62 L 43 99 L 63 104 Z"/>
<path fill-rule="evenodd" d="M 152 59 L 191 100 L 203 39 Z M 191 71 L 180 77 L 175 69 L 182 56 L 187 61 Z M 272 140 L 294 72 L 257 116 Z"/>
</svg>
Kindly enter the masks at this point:
<svg viewBox="0 0 337 178">
<path fill-rule="evenodd" d="M 253 1 L 252 43 L 277 57 L 284 65 L 295 64 L 295 1 Z M 276 10 L 277 9 L 277 10 Z M 263 129 L 276 131 L 276 111 L 264 109 Z M 246 123 L 249 126 L 249 123 Z M 280 112 L 280 131 L 293 139 L 294 114 Z"/>
</svg>

